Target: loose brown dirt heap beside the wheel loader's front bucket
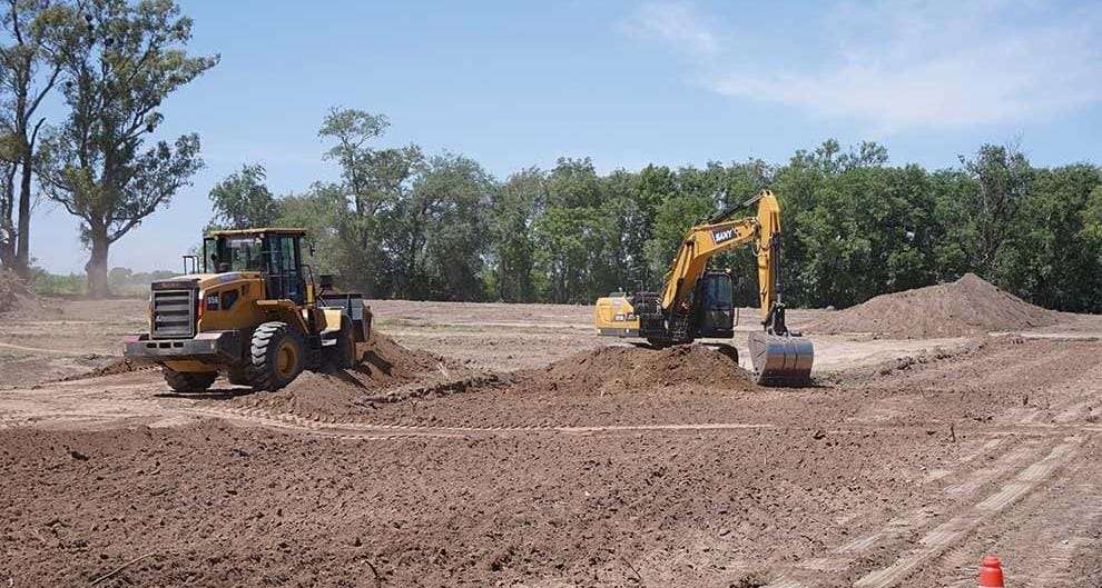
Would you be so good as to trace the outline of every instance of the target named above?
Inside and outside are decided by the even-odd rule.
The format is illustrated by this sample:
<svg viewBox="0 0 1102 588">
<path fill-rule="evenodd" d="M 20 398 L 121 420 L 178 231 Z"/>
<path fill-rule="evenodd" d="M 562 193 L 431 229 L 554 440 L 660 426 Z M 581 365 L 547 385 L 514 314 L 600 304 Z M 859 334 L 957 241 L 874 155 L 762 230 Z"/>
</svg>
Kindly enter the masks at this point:
<svg viewBox="0 0 1102 588">
<path fill-rule="evenodd" d="M 372 333 L 358 351 L 361 361 L 352 369 L 305 371 L 279 391 L 248 395 L 235 402 L 309 418 L 343 419 L 373 410 L 386 390 L 404 389 L 409 397 L 416 398 L 431 396 L 435 388 L 442 395 L 469 388 L 456 383 L 471 376 L 462 366 L 435 353 L 402 347 L 381 332 Z"/>
</svg>

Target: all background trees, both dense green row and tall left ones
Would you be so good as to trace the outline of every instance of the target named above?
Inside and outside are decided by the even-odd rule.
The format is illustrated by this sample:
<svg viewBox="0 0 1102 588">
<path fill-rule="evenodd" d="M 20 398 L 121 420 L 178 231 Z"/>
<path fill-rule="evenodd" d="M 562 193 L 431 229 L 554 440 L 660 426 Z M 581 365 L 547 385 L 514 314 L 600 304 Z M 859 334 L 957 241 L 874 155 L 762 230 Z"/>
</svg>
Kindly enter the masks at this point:
<svg viewBox="0 0 1102 588">
<path fill-rule="evenodd" d="M 171 0 L 7 0 L 0 13 L 0 265 L 30 276 L 30 211 L 45 197 L 80 220 L 88 292 L 109 290 L 110 246 L 168 206 L 201 168 L 199 138 L 168 140 L 160 106 L 215 67 L 187 52 Z M 61 111 L 48 118 L 55 97 Z M 960 165 L 893 166 L 884 147 L 828 140 L 783 163 L 648 166 L 599 173 L 560 159 L 499 179 L 462 155 L 381 148 L 382 114 L 334 108 L 321 157 L 341 170 L 273 195 L 246 163 L 211 191 L 211 226 L 311 230 L 318 272 L 376 298 L 590 302 L 655 289 L 686 229 L 780 198 L 786 300 L 844 307 L 976 272 L 1050 308 L 1102 310 L 1102 172 L 1032 165 L 984 144 Z M 755 300 L 748 250 L 730 267 Z"/>
</svg>

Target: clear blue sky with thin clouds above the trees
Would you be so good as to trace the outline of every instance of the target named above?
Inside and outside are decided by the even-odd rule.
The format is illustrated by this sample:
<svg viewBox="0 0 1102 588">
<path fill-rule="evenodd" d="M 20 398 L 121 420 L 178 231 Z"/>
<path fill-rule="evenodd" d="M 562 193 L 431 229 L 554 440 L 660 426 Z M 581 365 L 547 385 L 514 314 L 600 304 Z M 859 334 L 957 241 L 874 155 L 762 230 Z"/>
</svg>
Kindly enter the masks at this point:
<svg viewBox="0 0 1102 588">
<path fill-rule="evenodd" d="M 564 156 L 602 171 L 784 162 L 830 137 L 933 168 L 984 142 L 1102 162 L 1102 2 L 181 6 L 189 49 L 222 62 L 166 102 L 159 133 L 198 132 L 206 168 L 112 266 L 176 268 L 207 192 L 242 163 L 263 163 L 277 193 L 335 179 L 317 137 L 332 106 L 385 113 L 381 146 L 463 153 L 500 178 Z M 32 231 L 40 265 L 81 271 L 63 209 L 40 203 Z"/>
</svg>

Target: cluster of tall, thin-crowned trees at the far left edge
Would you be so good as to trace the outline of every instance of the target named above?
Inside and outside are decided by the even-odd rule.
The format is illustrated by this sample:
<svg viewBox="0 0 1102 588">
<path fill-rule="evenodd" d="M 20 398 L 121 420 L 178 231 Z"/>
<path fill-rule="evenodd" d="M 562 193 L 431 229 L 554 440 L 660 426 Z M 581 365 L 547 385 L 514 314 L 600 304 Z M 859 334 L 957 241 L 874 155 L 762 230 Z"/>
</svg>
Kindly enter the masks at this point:
<svg viewBox="0 0 1102 588">
<path fill-rule="evenodd" d="M 191 20 L 170 0 L 0 10 L 0 265 L 31 277 L 31 207 L 45 197 L 79 219 L 88 292 L 106 296 L 111 245 L 203 167 L 198 136 L 154 137 L 163 101 L 218 56 L 187 53 Z"/>
</svg>

